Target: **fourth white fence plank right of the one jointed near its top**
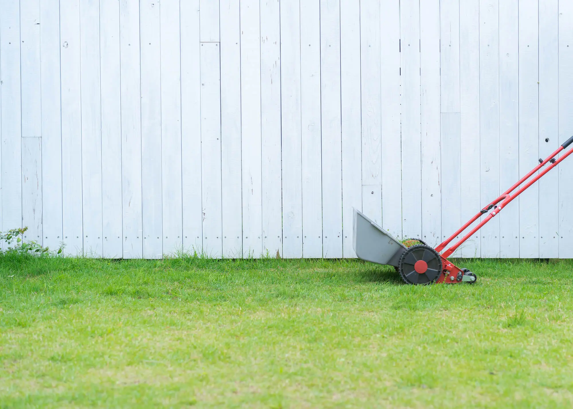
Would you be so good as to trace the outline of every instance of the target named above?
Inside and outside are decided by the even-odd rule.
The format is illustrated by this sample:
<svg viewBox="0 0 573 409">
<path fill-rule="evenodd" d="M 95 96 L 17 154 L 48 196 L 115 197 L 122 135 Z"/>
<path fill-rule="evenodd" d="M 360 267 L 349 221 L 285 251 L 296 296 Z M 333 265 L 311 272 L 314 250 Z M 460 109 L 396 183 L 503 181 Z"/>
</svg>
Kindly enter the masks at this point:
<svg viewBox="0 0 573 409">
<path fill-rule="evenodd" d="M 303 256 L 300 2 L 281 2 L 282 249 Z"/>
</svg>

